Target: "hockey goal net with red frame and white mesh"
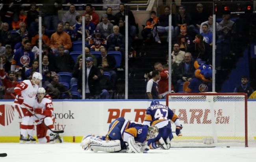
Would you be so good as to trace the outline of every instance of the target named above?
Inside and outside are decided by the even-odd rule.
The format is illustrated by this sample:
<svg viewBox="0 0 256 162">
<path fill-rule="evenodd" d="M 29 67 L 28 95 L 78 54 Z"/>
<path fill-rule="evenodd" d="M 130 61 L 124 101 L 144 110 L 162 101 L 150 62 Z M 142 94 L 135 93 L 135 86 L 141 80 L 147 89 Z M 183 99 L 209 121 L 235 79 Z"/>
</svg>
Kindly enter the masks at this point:
<svg viewBox="0 0 256 162">
<path fill-rule="evenodd" d="M 173 147 L 256 146 L 244 93 L 169 93 L 166 105 L 184 127 Z"/>
</svg>

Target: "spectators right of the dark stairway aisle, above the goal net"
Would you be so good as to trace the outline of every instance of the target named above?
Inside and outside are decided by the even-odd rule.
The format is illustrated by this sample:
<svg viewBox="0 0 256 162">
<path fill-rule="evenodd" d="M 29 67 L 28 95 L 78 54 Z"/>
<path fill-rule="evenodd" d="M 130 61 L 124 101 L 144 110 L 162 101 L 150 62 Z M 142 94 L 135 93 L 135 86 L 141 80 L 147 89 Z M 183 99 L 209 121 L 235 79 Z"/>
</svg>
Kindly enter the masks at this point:
<svg viewBox="0 0 256 162">
<path fill-rule="evenodd" d="M 182 85 L 184 82 L 190 82 L 195 77 L 195 61 L 199 62 L 199 64 L 212 64 L 213 16 L 204 10 L 202 4 L 197 4 L 194 12 L 191 11 L 190 13 L 186 11 L 187 7 L 181 5 L 178 7 L 177 13 L 172 15 L 171 40 L 173 51 L 171 53 L 171 80 L 174 87 L 171 90 L 177 93 L 183 92 Z M 160 15 L 159 18 L 154 11 L 151 11 L 150 18 L 141 32 L 144 44 L 147 42 L 149 33 L 152 34 L 157 44 L 162 44 L 159 37 L 160 33 L 167 33 L 166 42 L 169 41 L 169 15 L 169 6 L 165 6 L 164 14 Z M 219 41 L 225 39 L 234 24 L 230 20 L 230 11 L 224 11 L 222 18 L 221 22 L 216 23 L 217 40 Z M 160 73 L 158 74 L 156 71 Z M 147 83 L 148 99 L 165 98 L 168 92 L 168 77 L 166 79 L 166 73 L 169 73 L 168 55 L 167 64 L 162 65 L 156 62 L 154 70 L 145 75 L 145 78 L 150 80 Z M 158 75 L 160 80 L 155 81 Z M 165 78 L 165 81 L 163 81 L 163 78 Z M 163 91 L 163 89 L 165 90 Z"/>
</svg>

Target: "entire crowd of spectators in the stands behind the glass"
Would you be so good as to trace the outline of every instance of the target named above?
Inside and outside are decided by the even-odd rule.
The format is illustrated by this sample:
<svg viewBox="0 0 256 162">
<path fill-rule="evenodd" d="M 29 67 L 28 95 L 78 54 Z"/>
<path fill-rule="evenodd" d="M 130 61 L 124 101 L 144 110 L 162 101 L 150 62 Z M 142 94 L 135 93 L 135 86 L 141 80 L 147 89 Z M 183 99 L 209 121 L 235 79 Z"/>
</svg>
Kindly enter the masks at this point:
<svg viewBox="0 0 256 162">
<path fill-rule="evenodd" d="M 91 0 L 91 4 L 95 1 Z M 134 39 L 138 36 L 138 26 L 131 11 L 125 11 L 125 5 L 120 0 L 103 0 L 101 4 L 106 14 L 101 17 L 95 12 L 98 7 L 91 4 L 86 6 L 75 6 L 82 4 L 80 0 L 67 0 L 61 5 L 59 0 L 48 0 L 49 5 L 43 5 L 41 16 L 42 24 L 42 68 L 43 87 L 53 99 L 74 98 L 70 93 L 73 85 L 76 85 L 80 98 L 85 93 L 86 98 L 108 99 L 109 91 L 115 89 L 117 82 L 117 60 L 114 56 L 108 55 L 111 51 L 121 53 L 121 67 L 124 67 L 125 51 L 125 25 L 128 25 L 128 48 L 132 49 Z M 113 5 L 113 4 L 119 4 Z M 58 18 L 58 11 L 68 10 L 62 15 L 62 20 Z M 85 12 L 80 15 L 76 10 Z M 1 11 L 2 22 L 0 22 L 0 75 L 2 85 L 7 82 L 5 90 L 13 87 L 17 81 L 22 81 L 32 76 L 32 73 L 39 71 L 39 12 L 35 4 L 31 4 L 29 9 L 21 5 L 9 5 Z M 119 10 L 112 15 L 113 10 Z M 10 12 L 13 11 L 13 12 Z M 128 13 L 128 22 L 125 24 L 124 13 Z M 169 33 L 170 7 L 166 6 L 164 14 L 158 16 L 155 11 L 150 12 L 150 18 L 145 24 L 141 35 L 143 42 L 147 42 L 148 34 L 152 34 L 150 39 L 154 39 L 157 44 L 161 44 L 160 33 Z M 85 16 L 85 29 L 82 28 L 82 16 Z M 172 52 L 172 90 L 178 92 L 178 87 L 182 82 L 189 81 L 193 77 L 193 62 L 205 62 L 211 64 L 212 53 L 212 23 L 213 17 L 203 9 L 202 4 L 197 4 L 195 13 L 187 13 L 186 6 L 178 7 L 178 12 L 172 16 L 171 34 L 174 43 Z M 230 13 L 223 14 L 223 21 L 217 23 L 219 39 L 232 29 L 234 22 L 230 20 Z M 86 66 L 82 67 L 82 55 L 74 60 L 70 55 L 72 44 L 82 40 L 82 32 L 85 32 L 85 57 Z M 168 37 L 167 37 L 168 38 Z M 167 39 L 167 42 L 169 40 Z M 91 54 L 98 51 L 100 56 Z M 80 50 L 82 54 L 82 49 Z M 168 62 L 167 62 L 168 64 Z M 82 69 L 85 68 L 85 92 L 82 92 Z M 152 72 L 153 80 L 151 87 L 156 87 L 158 82 L 161 92 L 158 95 L 149 94 L 152 88 L 147 88 L 148 98 L 156 96 L 163 98 L 168 86 L 168 66 L 156 62 L 155 70 Z M 70 82 L 65 86 L 61 82 L 58 73 L 68 72 L 72 76 Z M 158 73 L 159 72 L 159 73 Z M 108 75 L 109 74 L 110 78 Z M 150 75 L 148 75 L 150 76 Z M 15 79 L 16 78 L 16 79 Z M 9 99 L 8 91 L 5 93 Z"/>
</svg>

